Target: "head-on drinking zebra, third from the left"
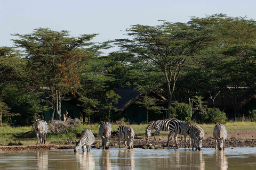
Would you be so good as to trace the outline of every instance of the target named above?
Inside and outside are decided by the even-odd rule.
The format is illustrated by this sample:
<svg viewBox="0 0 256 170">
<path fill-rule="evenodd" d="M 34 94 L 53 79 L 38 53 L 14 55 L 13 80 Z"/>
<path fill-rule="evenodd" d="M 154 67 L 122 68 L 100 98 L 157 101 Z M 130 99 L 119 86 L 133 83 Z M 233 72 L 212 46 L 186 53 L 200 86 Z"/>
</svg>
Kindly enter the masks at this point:
<svg viewBox="0 0 256 170">
<path fill-rule="evenodd" d="M 113 130 L 111 128 L 111 124 L 108 122 L 102 122 L 100 124 L 99 129 L 99 135 L 102 139 L 102 148 L 108 149 L 109 148 L 109 139 L 111 137 L 111 134 L 113 133 Z"/>
</svg>

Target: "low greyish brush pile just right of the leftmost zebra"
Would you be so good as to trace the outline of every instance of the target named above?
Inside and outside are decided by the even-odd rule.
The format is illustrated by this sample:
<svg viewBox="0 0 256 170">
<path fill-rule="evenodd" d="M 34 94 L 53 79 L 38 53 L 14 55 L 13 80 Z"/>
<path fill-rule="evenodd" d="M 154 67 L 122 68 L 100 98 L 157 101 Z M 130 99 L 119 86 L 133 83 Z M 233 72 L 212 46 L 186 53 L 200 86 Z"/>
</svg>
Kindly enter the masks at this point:
<svg viewBox="0 0 256 170">
<path fill-rule="evenodd" d="M 59 133 L 77 133 L 79 129 L 82 128 L 81 122 L 78 118 L 71 119 L 67 118 L 66 122 L 52 120 L 49 123 L 49 131 L 51 134 L 59 134 Z"/>
</svg>

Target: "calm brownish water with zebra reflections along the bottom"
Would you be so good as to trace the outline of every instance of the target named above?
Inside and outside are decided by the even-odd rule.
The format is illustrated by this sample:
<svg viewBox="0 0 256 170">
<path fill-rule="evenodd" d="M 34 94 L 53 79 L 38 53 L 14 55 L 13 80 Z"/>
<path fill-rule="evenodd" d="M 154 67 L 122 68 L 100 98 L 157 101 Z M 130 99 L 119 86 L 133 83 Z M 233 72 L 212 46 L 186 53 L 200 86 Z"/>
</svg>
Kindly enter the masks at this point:
<svg viewBox="0 0 256 170">
<path fill-rule="evenodd" d="M 256 169 L 256 148 L 0 152 L 0 169 Z"/>
</svg>

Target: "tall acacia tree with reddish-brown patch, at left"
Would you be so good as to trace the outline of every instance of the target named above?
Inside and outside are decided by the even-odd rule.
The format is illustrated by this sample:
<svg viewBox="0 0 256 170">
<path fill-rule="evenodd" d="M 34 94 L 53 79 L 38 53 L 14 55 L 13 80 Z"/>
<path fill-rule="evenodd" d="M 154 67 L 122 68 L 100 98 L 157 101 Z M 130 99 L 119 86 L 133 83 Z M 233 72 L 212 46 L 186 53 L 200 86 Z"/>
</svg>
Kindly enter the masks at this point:
<svg viewBox="0 0 256 170">
<path fill-rule="evenodd" d="M 33 72 L 30 74 L 32 86 L 50 93 L 49 104 L 53 110 L 56 108 L 60 120 L 62 97 L 79 86 L 79 66 L 95 47 L 90 40 L 97 34 L 70 37 L 69 31 L 38 28 L 27 35 L 13 36 L 19 37 L 13 40 L 15 46 L 25 49 L 27 54 L 28 71 Z M 78 50 L 81 47 L 87 48 Z"/>
</svg>

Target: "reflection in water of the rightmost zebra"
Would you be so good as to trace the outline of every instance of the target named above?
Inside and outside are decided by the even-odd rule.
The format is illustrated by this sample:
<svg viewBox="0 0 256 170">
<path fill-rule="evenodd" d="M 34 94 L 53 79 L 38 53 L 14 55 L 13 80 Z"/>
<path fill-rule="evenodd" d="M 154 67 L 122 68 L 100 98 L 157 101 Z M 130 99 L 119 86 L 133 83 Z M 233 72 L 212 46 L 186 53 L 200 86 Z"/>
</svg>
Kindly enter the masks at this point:
<svg viewBox="0 0 256 170">
<path fill-rule="evenodd" d="M 222 169 L 222 170 L 228 169 L 228 159 L 225 155 L 225 151 L 223 150 L 215 151 L 214 169 Z"/>
</svg>

